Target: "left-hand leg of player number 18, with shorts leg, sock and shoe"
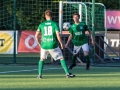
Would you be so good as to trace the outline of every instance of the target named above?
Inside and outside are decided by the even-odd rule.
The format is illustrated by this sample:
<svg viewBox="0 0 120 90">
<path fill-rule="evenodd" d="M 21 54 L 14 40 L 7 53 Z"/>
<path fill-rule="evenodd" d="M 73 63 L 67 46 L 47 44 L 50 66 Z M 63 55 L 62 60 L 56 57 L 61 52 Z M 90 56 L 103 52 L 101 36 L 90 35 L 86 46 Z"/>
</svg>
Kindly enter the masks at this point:
<svg viewBox="0 0 120 90">
<path fill-rule="evenodd" d="M 41 58 L 39 60 L 39 63 L 38 63 L 38 78 L 41 79 L 42 78 L 42 71 L 43 71 L 43 67 L 44 67 L 44 60 L 45 58 L 47 57 L 47 54 L 48 52 L 45 50 L 45 49 L 42 49 L 41 48 Z"/>
</svg>

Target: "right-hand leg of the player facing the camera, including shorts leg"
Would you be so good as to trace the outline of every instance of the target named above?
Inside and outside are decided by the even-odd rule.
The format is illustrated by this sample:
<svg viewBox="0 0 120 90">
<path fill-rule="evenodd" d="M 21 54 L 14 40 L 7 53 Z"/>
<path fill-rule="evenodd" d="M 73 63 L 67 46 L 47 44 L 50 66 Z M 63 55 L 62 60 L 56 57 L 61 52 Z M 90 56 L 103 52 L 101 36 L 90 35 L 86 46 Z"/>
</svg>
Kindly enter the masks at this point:
<svg viewBox="0 0 120 90">
<path fill-rule="evenodd" d="M 90 57 L 89 57 L 89 46 L 88 44 L 84 44 L 82 46 L 82 49 L 84 51 L 84 57 L 86 59 L 86 70 L 90 69 Z"/>
</svg>

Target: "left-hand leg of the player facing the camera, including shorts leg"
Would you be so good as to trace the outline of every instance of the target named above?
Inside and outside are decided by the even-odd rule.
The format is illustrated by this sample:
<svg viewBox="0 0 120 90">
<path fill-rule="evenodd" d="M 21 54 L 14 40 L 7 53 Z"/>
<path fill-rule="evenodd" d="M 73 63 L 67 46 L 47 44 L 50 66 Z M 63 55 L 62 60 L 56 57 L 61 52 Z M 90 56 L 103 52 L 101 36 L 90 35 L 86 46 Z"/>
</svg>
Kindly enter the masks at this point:
<svg viewBox="0 0 120 90">
<path fill-rule="evenodd" d="M 73 49 L 73 56 L 72 56 L 72 64 L 69 66 L 69 69 L 72 69 L 76 66 L 76 60 L 77 60 L 77 53 L 80 51 L 81 46 L 74 46 Z"/>
</svg>

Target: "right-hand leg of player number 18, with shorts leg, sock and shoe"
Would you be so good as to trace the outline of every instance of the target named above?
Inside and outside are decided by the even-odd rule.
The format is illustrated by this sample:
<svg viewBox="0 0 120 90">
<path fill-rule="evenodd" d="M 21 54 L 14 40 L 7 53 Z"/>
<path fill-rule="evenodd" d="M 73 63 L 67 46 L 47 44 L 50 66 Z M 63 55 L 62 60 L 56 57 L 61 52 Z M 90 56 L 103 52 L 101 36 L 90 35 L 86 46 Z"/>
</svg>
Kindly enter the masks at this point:
<svg viewBox="0 0 120 90">
<path fill-rule="evenodd" d="M 53 50 L 50 50 L 49 52 L 50 52 L 50 54 L 51 54 L 51 56 L 53 57 L 54 60 L 60 60 L 61 66 L 63 67 L 67 77 L 75 77 L 75 75 L 72 75 L 69 72 L 66 61 L 64 60 L 62 51 L 60 50 L 59 47 L 55 48 Z"/>
</svg>

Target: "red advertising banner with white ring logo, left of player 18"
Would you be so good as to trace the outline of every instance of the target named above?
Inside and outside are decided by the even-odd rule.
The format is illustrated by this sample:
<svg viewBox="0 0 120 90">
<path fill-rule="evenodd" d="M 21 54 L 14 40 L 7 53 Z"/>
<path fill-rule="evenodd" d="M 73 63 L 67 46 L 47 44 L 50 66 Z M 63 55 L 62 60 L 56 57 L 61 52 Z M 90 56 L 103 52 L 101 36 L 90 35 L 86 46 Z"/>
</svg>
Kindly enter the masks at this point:
<svg viewBox="0 0 120 90">
<path fill-rule="evenodd" d="M 22 31 L 18 46 L 18 52 L 40 52 L 40 47 L 35 39 L 35 33 L 35 31 Z"/>
</svg>

